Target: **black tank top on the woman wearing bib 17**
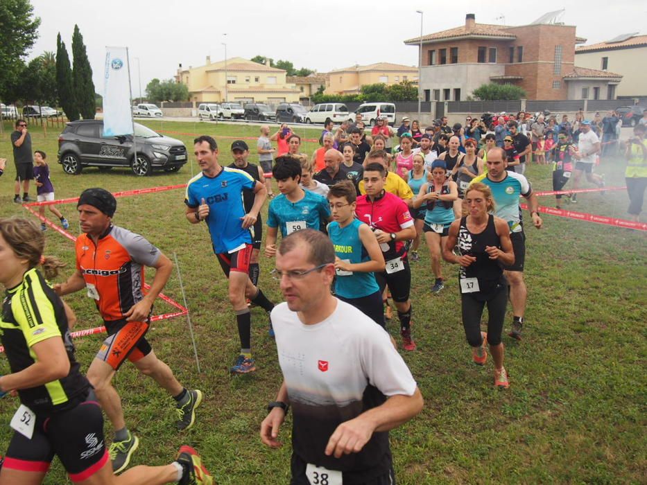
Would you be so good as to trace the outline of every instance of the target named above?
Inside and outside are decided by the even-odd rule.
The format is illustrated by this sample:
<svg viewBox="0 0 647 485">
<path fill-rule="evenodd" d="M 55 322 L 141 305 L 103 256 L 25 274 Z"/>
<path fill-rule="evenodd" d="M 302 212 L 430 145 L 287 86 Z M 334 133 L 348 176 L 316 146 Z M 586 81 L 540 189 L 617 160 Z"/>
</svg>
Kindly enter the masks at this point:
<svg viewBox="0 0 647 485">
<path fill-rule="evenodd" d="M 467 229 L 467 217 L 460 219 L 460 229 L 458 229 L 458 249 L 461 255 L 474 256 L 476 261 L 468 267 L 460 267 L 458 278 L 476 278 L 478 279 L 478 288 L 481 297 L 487 298 L 492 292 L 499 289 L 500 285 L 506 283 L 503 276 L 503 268 L 499 261 L 490 259 L 485 252 L 486 246 L 495 246 L 501 248 L 501 238 L 494 227 L 494 215 L 488 217 L 488 224 L 480 233 L 472 233 Z M 476 294 L 474 294 L 476 296 Z"/>
</svg>

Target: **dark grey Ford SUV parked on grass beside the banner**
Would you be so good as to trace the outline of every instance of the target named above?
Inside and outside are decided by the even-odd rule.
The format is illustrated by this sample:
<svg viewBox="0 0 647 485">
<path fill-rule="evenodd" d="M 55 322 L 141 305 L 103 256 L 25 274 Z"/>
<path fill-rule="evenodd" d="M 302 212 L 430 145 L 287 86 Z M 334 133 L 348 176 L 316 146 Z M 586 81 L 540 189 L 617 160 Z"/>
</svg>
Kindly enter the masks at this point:
<svg viewBox="0 0 647 485">
<path fill-rule="evenodd" d="M 83 167 L 130 167 L 139 176 L 157 169 L 177 172 L 187 163 L 187 147 L 139 123 L 133 139 L 131 134 L 103 136 L 103 120 L 71 121 L 58 137 L 58 163 L 71 175 L 81 173 Z"/>
</svg>

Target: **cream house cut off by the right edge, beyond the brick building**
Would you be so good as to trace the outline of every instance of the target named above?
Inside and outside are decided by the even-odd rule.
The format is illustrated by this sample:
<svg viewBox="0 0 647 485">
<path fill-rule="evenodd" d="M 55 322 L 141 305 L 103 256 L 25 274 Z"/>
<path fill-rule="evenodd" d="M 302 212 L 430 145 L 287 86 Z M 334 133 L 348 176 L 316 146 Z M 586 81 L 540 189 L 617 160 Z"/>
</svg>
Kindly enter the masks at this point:
<svg viewBox="0 0 647 485">
<path fill-rule="evenodd" d="M 622 75 L 615 96 L 647 96 L 647 35 L 619 35 L 607 42 L 576 48 L 578 66 Z"/>
</svg>

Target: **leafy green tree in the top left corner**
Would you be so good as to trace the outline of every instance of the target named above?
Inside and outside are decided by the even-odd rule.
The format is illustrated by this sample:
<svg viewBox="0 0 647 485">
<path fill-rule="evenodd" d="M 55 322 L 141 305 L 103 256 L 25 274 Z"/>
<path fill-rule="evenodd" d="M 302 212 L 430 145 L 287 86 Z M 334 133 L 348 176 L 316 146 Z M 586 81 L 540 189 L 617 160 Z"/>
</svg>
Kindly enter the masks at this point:
<svg viewBox="0 0 647 485">
<path fill-rule="evenodd" d="M 29 0 L 0 1 L 0 98 L 17 100 L 19 76 L 27 51 L 38 38 L 40 18 L 33 16 Z"/>
</svg>

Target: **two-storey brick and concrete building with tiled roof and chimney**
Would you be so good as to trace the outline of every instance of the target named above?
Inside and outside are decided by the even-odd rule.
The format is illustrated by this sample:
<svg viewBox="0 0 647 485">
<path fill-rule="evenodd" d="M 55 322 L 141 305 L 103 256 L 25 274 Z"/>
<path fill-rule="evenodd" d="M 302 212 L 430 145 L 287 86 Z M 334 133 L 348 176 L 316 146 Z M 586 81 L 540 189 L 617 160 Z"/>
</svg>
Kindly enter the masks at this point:
<svg viewBox="0 0 647 485">
<path fill-rule="evenodd" d="M 420 46 L 420 41 L 404 43 Z M 569 82 L 583 87 L 592 78 L 592 70 L 581 78 L 575 69 L 575 47 L 583 42 L 574 26 L 476 24 L 474 14 L 467 14 L 464 26 L 422 36 L 423 98 L 459 101 L 485 83 L 507 82 L 522 87 L 528 99 L 567 99 L 583 92 L 569 89 Z M 617 84 L 621 78 L 605 75 L 595 82 Z"/>
</svg>

